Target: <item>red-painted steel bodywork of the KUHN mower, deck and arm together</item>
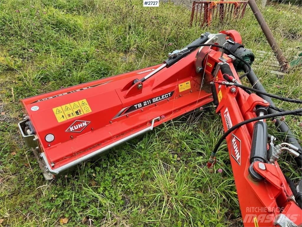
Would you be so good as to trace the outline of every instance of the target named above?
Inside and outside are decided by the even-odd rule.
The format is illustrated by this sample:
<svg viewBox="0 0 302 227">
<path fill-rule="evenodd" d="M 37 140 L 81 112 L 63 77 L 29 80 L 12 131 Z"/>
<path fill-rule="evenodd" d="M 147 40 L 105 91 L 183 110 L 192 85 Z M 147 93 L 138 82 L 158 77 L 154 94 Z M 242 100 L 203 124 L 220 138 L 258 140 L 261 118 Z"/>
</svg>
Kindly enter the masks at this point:
<svg viewBox="0 0 302 227">
<path fill-rule="evenodd" d="M 221 33 L 241 43 L 238 32 Z M 221 52 L 217 48 L 210 49 L 203 61 L 202 74 L 195 71 L 196 53 L 194 51 L 173 66 L 162 69 L 144 81 L 140 90 L 136 90 L 132 81 L 156 70 L 160 65 L 21 100 L 50 173 L 56 174 L 56 169 L 68 166 L 111 144 L 115 145 L 124 138 L 152 130 L 163 122 L 211 102 L 212 93 L 208 82 L 213 79 L 224 80 L 221 71 L 218 71 L 216 78 L 213 77 L 215 67 L 221 61 Z M 240 83 L 232 58 L 226 54 L 224 57 Z M 240 88 L 231 92 L 231 87 L 219 86 L 217 83 L 215 86 L 217 94 L 220 93 L 217 112 L 221 113 L 225 131 L 230 128 L 230 124 L 234 126 L 256 117 L 256 105 L 268 106 L 259 96 L 248 94 Z M 53 108 L 84 99 L 91 112 L 58 122 Z M 74 132 L 74 127 L 70 130 L 75 121 L 86 122 L 85 127 L 83 124 L 79 125 L 81 122 L 76 123 L 78 128 L 83 128 L 79 130 L 81 132 Z M 244 125 L 226 138 L 243 223 L 245 226 L 274 226 L 275 218 L 284 214 L 300 225 L 301 209 L 291 199 L 293 193 L 277 162 L 274 165 L 266 163 L 265 170 L 259 169 L 257 162 L 254 163 L 254 169 L 265 179 L 263 181 L 256 182 L 249 175 L 254 124 L 255 122 Z M 54 135 L 52 142 L 46 141 L 47 134 Z"/>
</svg>

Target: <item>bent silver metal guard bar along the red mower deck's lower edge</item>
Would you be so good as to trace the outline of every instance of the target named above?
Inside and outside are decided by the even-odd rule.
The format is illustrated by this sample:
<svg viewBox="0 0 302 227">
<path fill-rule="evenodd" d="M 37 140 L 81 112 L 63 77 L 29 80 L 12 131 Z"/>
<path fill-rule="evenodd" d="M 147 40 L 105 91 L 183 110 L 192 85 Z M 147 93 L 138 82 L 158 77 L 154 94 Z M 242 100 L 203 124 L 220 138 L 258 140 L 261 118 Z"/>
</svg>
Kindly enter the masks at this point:
<svg viewBox="0 0 302 227">
<path fill-rule="evenodd" d="M 118 146 L 118 145 L 120 145 L 122 143 L 127 142 L 128 140 L 131 140 L 131 139 L 133 139 L 135 137 L 143 135 L 144 133 L 146 133 L 148 131 L 153 130 L 154 121 L 158 120 L 158 119 L 160 119 L 160 117 L 154 118 L 152 120 L 152 122 L 151 122 L 151 125 L 149 127 L 147 127 L 147 128 L 144 128 L 143 130 L 140 130 L 140 131 L 138 131 L 136 133 L 133 133 L 130 136 L 127 136 L 127 137 L 125 137 L 123 139 L 117 140 L 114 143 L 109 144 L 108 146 L 104 146 L 104 147 L 102 147 L 102 148 L 100 148 L 100 149 L 98 149 L 98 150 L 96 150 L 96 151 L 94 151 L 92 153 L 89 153 L 89 154 L 87 154 L 87 155 L 85 155 L 85 156 L 83 156 L 83 157 L 81 157 L 79 159 L 76 159 L 76 160 L 74 160 L 74 161 L 72 161 L 70 163 L 67 163 L 64 166 L 60 166 L 60 167 L 58 167 L 56 169 L 52 169 L 51 168 L 51 166 L 49 165 L 47 157 L 45 156 L 44 152 L 41 153 L 40 156 L 43 158 L 43 160 L 45 162 L 45 165 L 46 165 L 45 167 L 48 169 L 49 173 L 51 173 L 53 175 L 58 175 L 58 174 L 64 172 L 65 170 L 70 169 L 73 166 L 76 166 L 77 164 L 79 164 L 81 162 L 87 161 L 87 160 L 91 159 L 92 157 L 97 156 L 97 155 L 99 155 L 99 154 L 101 154 L 101 153 L 103 153 L 103 152 L 105 152 L 105 151 L 107 151 L 107 150 L 109 150 L 109 149 L 111 149 L 111 148 L 113 148 L 115 146 Z"/>
</svg>

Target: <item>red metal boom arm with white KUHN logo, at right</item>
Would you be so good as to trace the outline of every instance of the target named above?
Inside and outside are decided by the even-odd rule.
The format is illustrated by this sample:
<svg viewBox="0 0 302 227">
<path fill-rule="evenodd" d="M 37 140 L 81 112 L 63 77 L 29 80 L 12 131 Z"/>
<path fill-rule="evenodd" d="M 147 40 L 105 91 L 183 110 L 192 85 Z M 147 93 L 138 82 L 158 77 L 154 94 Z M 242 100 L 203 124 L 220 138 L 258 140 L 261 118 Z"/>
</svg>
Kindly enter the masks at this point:
<svg viewBox="0 0 302 227">
<path fill-rule="evenodd" d="M 221 62 L 218 58 L 221 52 L 210 51 L 204 60 L 205 73 L 213 77 L 214 66 Z M 227 55 L 224 56 L 228 58 Z M 241 83 L 236 70 L 228 60 L 234 77 Z M 214 81 L 225 81 L 221 71 L 218 71 Z M 226 87 L 216 83 L 219 105 L 217 112 L 221 113 L 224 131 L 253 117 L 256 117 L 255 107 L 268 106 L 268 103 L 255 94 L 248 94 L 238 87 Z M 233 89 L 232 89 L 233 88 Z M 293 193 L 286 182 L 278 163 L 265 163 L 265 169 L 259 168 L 259 162 L 253 167 L 264 180 L 255 181 L 249 174 L 252 133 L 255 122 L 234 130 L 226 137 L 233 169 L 236 190 L 245 226 L 275 226 L 281 214 L 297 225 L 302 222 L 302 212 L 292 200 Z M 281 218 L 284 216 L 281 216 Z"/>
</svg>

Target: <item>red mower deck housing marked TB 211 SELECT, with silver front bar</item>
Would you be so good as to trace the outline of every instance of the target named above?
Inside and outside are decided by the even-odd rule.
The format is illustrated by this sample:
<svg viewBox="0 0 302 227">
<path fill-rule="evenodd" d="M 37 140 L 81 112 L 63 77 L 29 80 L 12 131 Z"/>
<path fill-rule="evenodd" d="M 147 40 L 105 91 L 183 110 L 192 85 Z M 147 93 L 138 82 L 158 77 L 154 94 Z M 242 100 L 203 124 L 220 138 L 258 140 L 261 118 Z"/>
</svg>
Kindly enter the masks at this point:
<svg viewBox="0 0 302 227">
<path fill-rule="evenodd" d="M 21 100 L 40 157 L 60 175 L 153 127 L 212 101 L 195 72 L 197 50 L 143 82 L 161 64 Z M 23 130 L 20 128 L 21 131 Z M 27 144 L 31 144 L 27 142 Z"/>
</svg>

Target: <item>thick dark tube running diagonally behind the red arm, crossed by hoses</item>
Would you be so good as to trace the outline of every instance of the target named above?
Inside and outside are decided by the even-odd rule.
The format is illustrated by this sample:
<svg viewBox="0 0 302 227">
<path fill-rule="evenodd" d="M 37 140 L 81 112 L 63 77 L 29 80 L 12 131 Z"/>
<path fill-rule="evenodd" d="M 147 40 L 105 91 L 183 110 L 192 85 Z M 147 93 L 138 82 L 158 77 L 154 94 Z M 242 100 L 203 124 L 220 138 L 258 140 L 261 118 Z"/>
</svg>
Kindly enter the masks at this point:
<svg viewBox="0 0 302 227">
<path fill-rule="evenodd" d="M 247 67 L 246 65 L 243 65 L 243 71 L 245 72 L 249 72 L 249 67 Z M 256 74 L 254 73 L 254 71 L 251 69 L 251 71 L 247 74 L 247 78 L 249 80 L 249 82 L 252 84 L 252 86 L 258 90 L 264 91 L 265 92 L 265 88 L 263 87 L 263 85 L 260 83 L 260 81 L 258 80 Z M 266 96 L 266 95 L 262 95 L 259 94 L 260 97 L 262 97 L 263 99 L 265 99 L 266 101 L 268 101 L 268 103 L 272 106 L 275 107 L 274 102 L 271 100 L 270 97 Z M 272 109 L 272 108 L 268 108 L 268 113 L 276 113 L 277 111 Z M 298 147 L 299 150 L 298 152 L 301 154 L 302 153 L 302 147 L 300 146 L 300 144 L 298 143 L 297 139 L 294 137 L 294 134 L 291 132 L 291 130 L 289 129 L 287 123 L 285 121 L 281 121 L 279 119 L 276 119 L 275 122 L 275 126 L 277 127 L 277 129 L 282 132 L 282 133 L 286 133 L 287 136 L 285 138 L 285 141 L 287 143 L 291 143 L 294 146 Z M 302 166 L 302 160 L 297 158 L 294 158 L 297 165 L 299 167 Z"/>
</svg>

